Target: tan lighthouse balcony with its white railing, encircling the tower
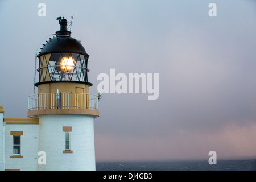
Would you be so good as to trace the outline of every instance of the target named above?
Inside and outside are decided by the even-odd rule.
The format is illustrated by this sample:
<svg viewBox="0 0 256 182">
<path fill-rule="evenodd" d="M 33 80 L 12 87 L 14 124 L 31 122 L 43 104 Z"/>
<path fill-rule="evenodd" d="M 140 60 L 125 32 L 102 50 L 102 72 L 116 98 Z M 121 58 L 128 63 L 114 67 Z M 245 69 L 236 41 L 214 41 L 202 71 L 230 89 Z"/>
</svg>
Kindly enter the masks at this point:
<svg viewBox="0 0 256 182">
<path fill-rule="evenodd" d="M 42 114 L 98 116 L 98 96 L 89 93 L 42 93 L 28 97 L 28 117 Z"/>
</svg>

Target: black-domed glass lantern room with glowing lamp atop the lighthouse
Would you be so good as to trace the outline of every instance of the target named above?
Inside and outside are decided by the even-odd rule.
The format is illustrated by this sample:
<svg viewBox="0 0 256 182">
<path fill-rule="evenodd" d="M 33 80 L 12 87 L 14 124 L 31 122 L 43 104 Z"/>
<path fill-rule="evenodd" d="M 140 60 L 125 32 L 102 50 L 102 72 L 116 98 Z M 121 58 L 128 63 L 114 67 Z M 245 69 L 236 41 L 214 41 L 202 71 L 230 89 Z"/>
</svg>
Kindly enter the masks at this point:
<svg viewBox="0 0 256 182">
<path fill-rule="evenodd" d="M 35 86 L 47 82 L 83 82 L 92 86 L 87 75 L 89 55 L 80 41 L 70 36 L 67 20 L 61 18 L 59 23 L 56 37 L 47 40 L 38 54 L 39 82 Z"/>
</svg>

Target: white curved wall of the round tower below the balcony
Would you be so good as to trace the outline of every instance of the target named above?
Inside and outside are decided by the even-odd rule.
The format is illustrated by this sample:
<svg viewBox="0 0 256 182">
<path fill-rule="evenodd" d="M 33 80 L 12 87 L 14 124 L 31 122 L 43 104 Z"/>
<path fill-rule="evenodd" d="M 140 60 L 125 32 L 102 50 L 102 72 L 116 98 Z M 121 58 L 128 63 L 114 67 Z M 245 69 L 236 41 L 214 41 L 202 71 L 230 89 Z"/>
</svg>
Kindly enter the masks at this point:
<svg viewBox="0 0 256 182">
<path fill-rule="evenodd" d="M 73 153 L 63 153 L 63 126 L 72 126 Z M 38 164 L 38 170 L 95 170 L 93 117 L 75 114 L 40 115 L 38 150 L 46 152 L 46 164 Z"/>
</svg>

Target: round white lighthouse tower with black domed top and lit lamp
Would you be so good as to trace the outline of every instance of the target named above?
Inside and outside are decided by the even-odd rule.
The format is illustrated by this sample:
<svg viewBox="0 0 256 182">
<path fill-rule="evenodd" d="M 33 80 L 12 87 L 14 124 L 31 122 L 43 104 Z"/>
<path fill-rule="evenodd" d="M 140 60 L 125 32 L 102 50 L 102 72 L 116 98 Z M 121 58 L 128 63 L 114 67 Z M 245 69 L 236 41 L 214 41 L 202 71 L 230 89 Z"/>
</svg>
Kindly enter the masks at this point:
<svg viewBox="0 0 256 182">
<path fill-rule="evenodd" d="M 38 53 L 38 93 L 28 98 L 28 117 L 39 118 L 38 170 L 95 170 L 94 118 L 99 96 L 90 94 L 88 58 L 71 37 L 67 20 Z M 40 156 L 39 156 L 40 157 Z"/>
</svg>

